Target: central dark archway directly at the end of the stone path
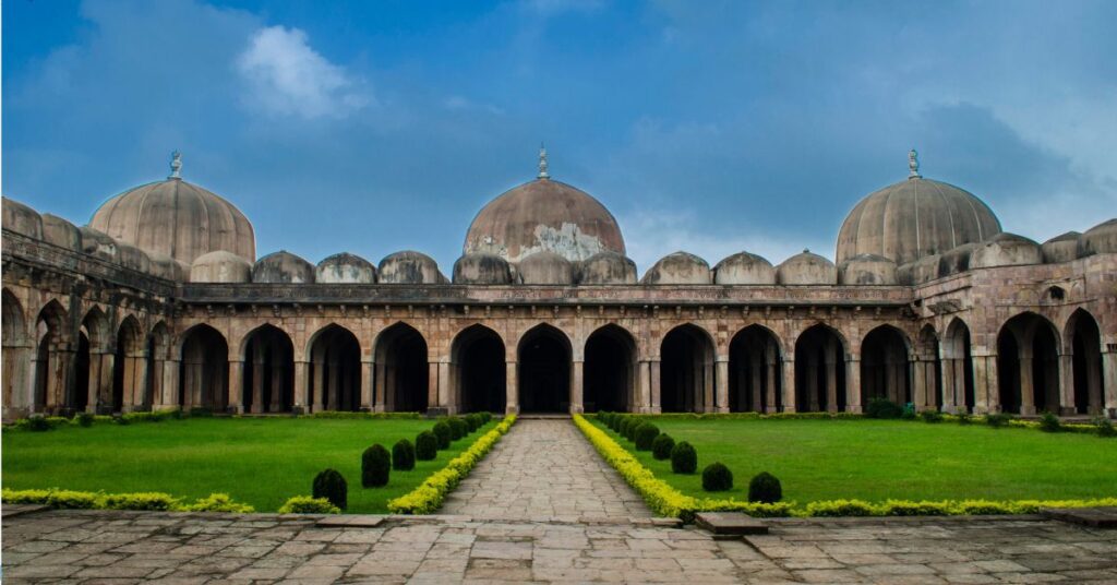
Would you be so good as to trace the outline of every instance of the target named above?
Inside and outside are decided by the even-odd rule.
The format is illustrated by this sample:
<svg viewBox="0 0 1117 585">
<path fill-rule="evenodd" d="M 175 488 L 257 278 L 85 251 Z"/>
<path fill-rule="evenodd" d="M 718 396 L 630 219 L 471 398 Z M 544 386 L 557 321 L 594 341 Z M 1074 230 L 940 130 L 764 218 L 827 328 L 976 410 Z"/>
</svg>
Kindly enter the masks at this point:
<svg viewBox="0 0 1117 585">
<path fill-rule="evenodd" d="M 519 408 L 524 413 L 570 412 L 571 348 L 566 336 L 541 324 L 517 348 Z"/>
</svg>

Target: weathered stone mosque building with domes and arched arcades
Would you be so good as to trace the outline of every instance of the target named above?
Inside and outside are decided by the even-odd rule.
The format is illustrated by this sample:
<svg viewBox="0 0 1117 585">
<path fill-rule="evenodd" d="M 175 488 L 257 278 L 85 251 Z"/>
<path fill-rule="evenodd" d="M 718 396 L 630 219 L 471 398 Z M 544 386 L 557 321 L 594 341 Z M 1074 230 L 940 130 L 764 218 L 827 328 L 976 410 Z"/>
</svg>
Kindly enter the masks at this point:
<svg viewBox="0 0 1117 585">
<path fill-rule="evenodd" d="M 176 154 L 84 227 L 4 198 L 3 418 L 857 413 L 875 397 L 1117 416 L 1117 219 L 1038 244 L 922 177 L 914 151 L 908 171 L 853 206 L 837 264 L 677 252 L 642 276 L 545 152 L 477 214 L 449 276 L 412 251 L 257 257 L 252 224 Z"/>
</svg>

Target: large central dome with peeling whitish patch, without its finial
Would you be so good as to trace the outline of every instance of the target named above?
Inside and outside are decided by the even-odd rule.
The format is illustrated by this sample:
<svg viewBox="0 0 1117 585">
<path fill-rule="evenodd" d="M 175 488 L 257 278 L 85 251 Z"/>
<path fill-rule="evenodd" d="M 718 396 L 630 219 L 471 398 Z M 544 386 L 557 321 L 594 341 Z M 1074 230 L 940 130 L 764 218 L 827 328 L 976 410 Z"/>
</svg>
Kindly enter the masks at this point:
<svg viewBox="0 0 1117 585">
<path fill-rule="evenodd" d="M 617 219 L 589 194 L 536 179 L 486 205 L 466 233 L 465 254 L 496 254 L 513 264 L 540 251 L 571 262 L 602 252 L 624 254 Z"/>
</svg>

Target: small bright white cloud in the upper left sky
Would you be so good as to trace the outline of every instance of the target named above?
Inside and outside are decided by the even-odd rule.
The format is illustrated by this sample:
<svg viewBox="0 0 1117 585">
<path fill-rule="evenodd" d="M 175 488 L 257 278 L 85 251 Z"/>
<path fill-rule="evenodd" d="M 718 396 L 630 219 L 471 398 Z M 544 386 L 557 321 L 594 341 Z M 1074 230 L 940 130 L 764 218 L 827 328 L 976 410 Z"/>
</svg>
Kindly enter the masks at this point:
<svg viewBox="0 0 1117 585">
<path fill-rule="evenodd" d="M 237 58 L 237 70 L 248 83 L 246 105 L 274 115 L 345 117 L 372 102 L 344 68 L 316 53 L 297 28 L 257 30 Z"/>
</svg>

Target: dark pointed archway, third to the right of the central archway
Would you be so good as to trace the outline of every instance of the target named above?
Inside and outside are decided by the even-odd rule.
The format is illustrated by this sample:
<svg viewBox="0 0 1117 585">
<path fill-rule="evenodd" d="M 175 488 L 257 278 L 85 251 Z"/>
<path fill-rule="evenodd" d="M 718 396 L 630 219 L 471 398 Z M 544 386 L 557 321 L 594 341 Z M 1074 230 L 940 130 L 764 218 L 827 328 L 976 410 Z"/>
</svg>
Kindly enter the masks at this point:
<svg viewBox="0 0 1117 585">
<path fill-rule="evenodd" d="M 729 342 L 729 412 L 774 413 L 782 397 L 780 343 L 772 331 L 748 325 Z"/>
</svg>

